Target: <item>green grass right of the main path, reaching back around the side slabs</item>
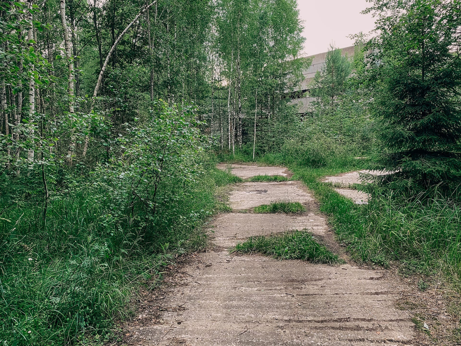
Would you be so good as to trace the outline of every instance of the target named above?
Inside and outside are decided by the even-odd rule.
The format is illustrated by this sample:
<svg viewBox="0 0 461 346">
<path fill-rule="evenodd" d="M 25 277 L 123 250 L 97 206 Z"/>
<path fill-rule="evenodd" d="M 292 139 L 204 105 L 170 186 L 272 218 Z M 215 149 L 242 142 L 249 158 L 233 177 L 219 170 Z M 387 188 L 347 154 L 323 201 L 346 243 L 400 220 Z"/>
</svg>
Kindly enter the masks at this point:
<svg viewBox="0 0 461 346">
<path fill-rule="evenodd" d="M 437 193 L 431 198 L 402 197 L 372 189 L 370 203 L 356 205 L 319 178 L 362 169 L 363 160 L 340 159 L 325 167 L 305 167 L 294 158 L 268 154 L 258 161 L 286 165 L 294 173 L 293 180 L 303 181 L 314 192 L 338 242 L 347 246 L 355 261 L 384 267 L 399 261 L 406 274 L 441 272 L 448 280 L 460 282 L 461 205 L 455 198 Z"/>
</svg>

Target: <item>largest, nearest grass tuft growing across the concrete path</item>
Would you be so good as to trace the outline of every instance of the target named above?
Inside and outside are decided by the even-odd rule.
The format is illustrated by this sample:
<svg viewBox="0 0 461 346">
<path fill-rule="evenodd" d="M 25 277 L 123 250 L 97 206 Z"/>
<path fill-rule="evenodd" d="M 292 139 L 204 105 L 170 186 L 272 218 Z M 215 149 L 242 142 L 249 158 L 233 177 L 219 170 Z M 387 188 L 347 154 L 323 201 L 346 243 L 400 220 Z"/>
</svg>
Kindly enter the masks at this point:
<svg viewBox="0 0 461 346">
<path fill-rule="evenodd" d="M 250 237 L 231 251 L 259 252 L 277 259 L 301 259 L 312 263 L 342 263 L 343 260 L 320 245 L 307 231 L 286 232 L 270 236 Z"/>
</svg>

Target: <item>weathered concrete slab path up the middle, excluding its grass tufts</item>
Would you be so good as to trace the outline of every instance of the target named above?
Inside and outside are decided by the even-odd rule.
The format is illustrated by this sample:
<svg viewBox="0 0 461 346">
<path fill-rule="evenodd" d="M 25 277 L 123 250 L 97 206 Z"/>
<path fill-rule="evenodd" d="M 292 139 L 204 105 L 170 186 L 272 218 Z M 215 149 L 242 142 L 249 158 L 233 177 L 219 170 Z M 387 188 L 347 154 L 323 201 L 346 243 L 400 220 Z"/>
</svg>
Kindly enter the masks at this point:
<svg viewBox="0 0 461 346">
<path fill-rule="evenodd" d="M 281 169 L 253 166 L 238 172 L 274 174 L 276 168 Z M 331 239 L 301 182 L 237 184 L 229 199 L 238 211 L 281 196 L 304 203 L 308 211 L 218 215 L 212 249 L 195 256 L 163 292 L 145 302 L 126 328 L 124 344 L 412 345 L 414 324 L 394 307 L 407 287 L 385 279 L 382 270 L 229 254 L 229 247 L 248 236 L 295 228 Z"/>
</svg>

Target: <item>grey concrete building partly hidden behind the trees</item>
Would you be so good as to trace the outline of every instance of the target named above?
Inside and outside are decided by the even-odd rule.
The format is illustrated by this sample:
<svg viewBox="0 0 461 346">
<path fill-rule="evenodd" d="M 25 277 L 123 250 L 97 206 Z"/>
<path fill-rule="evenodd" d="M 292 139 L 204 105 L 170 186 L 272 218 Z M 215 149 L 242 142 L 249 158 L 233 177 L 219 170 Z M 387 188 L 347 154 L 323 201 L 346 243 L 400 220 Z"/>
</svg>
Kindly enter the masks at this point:
<svg viewBox="0 0 461 346">
<path fill-rule="evenodd" d="M 341 48 L 343 56 L 347 55 L 349 58 L 352 58 L 355 53 L 355 46 L 350 46 L 346 48 Z M 322 70 L 322 67 L 325 65 L 325 58 L 328 52 L 309 55 L 306 58 L 313 58 L 311 66 L 304 70 L 302 74 L 304 75 L 304 80 L 301 84 L 294 90 L 295 92 L 292 95 L 295 95 L 296 98 L 292 99 L 292 103 L 299 105 L 299 113 L 308 113 L 310 105 L 314 100 L 314 97 L 310 97 L 310 89 L 312 88 L 312 80 L 316 72 Z M 303 97 L 299 97 L 302 95 Z"/>
</svg>

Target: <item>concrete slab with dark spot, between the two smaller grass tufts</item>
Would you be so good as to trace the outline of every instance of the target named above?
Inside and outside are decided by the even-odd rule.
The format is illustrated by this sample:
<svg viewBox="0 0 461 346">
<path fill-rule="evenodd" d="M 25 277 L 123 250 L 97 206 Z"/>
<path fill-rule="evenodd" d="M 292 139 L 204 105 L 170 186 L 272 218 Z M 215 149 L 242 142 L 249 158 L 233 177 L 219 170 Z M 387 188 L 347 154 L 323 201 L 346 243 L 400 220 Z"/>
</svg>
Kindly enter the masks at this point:
<svg viewBox="0 0 461 346">
<path fill-rule="evenodd" d="M 306 192 L 301 181 L 236 184 L 229 196 L 233 210 L 250 209 L 278 200 L 309 203 L 314 199 Z"/>
</svg>

